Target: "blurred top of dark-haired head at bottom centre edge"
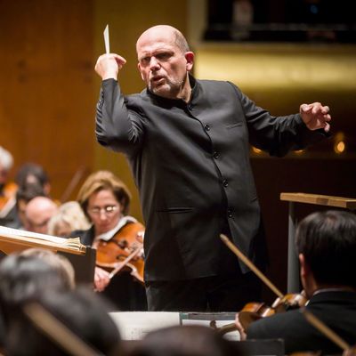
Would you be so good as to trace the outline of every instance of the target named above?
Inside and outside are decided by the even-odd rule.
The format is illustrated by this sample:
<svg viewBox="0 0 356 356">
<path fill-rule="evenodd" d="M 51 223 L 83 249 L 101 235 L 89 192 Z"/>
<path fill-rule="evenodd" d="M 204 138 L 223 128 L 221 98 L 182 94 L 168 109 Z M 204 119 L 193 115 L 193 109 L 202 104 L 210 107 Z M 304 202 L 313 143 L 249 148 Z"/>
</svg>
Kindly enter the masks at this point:
<svg viewBox="0 0 356 356">
<path fill-rule="evenodd" d="M 146 336 L 130 356 L 239 356 L 239 352 L 212 328 L 162 328 Z"/>
</svg>

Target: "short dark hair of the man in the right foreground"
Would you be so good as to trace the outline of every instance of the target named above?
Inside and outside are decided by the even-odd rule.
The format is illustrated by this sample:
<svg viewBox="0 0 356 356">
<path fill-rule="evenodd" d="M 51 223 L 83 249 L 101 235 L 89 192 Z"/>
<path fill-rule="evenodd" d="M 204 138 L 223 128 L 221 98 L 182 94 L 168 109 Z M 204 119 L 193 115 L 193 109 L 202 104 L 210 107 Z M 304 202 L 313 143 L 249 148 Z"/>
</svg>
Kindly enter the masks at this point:
<svg viewBox="0 0 356 356">
<path fill-rule="evenodd" d="M 299 223 L 295 243 L 318 283 L 356 287 L 356 215 L 310 214 Z"/>
</svg>

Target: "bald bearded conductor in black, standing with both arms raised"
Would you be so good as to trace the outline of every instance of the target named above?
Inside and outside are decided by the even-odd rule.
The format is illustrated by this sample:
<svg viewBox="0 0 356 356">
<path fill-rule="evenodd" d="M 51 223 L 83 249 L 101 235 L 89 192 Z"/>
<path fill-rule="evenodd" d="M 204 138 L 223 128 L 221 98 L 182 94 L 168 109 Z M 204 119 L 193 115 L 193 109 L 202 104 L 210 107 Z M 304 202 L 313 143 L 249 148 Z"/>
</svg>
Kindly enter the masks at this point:
<svg viewBox="0 0 356 356">
<path fill-rule="evenodd" d="M 194 53 L 171 26 L 144 31 L 136 52 L 142 93 L 121 92 L 123 57 L 96 63 L 96 136 L 125 154 L 140 190 L 149 309 L 238 311 L 260 299 L 261 287 L 220 233 L 260 268 L 266 263 L 249 143 L 273 156 L 301 150 L 325 137 L 329 109 L 314 102 L 273 117 L 230 82 L 192 77 Z"/>
</svg>

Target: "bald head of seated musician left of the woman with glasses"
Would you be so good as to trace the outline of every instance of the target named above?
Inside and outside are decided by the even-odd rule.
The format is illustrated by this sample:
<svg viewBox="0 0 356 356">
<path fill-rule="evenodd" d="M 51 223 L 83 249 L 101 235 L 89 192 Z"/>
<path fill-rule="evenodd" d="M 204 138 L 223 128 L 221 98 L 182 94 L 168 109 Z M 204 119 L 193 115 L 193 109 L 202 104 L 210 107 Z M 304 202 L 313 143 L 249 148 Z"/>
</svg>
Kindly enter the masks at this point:
<svg viewBox="0 0 356 356">
<path fill-rule="evenodd" d="M 52 199 L 36 197 L 28 202 L 25 210 L 25 230 L 47 233 L 48 222 L 57 212 L 58 206 Z"/>
</svg>

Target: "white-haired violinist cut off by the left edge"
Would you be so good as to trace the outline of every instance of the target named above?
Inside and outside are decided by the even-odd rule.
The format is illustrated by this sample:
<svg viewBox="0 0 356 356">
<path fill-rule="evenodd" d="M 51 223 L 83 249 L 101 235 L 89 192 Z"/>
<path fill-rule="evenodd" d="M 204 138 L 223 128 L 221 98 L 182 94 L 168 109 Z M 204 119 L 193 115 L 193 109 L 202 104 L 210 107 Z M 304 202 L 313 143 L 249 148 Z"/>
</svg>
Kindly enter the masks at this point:
<svg viewBox="0 0 356 356">
<path fill-rule="evenodd" d="M 9 171 L 13 165 L 12 154 L 0 146 L 0 225 L 11 225 L 16 219 L 17 185 L 9 181 Z"/>
</svg>

